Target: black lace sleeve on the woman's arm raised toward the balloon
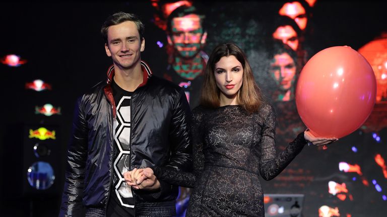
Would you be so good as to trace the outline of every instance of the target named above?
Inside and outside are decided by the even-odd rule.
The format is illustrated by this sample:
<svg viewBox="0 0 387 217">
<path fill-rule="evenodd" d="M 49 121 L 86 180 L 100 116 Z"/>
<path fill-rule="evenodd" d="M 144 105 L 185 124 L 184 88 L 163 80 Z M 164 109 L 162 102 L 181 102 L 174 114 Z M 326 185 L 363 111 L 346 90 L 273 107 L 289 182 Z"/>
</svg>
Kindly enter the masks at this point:
<svg viewBox="0 0 387 217">
<path fill-rule="evenodd" d="M 260 173 L 265 180 L 271 180 L 301 152 L 306 144 L 304 133 L 300 133 L 284 151 L 276 154 L 276 116 L 273 107 L 267 105 L 263 113 L 268 114 L 262 130 Z"/>
</svg>

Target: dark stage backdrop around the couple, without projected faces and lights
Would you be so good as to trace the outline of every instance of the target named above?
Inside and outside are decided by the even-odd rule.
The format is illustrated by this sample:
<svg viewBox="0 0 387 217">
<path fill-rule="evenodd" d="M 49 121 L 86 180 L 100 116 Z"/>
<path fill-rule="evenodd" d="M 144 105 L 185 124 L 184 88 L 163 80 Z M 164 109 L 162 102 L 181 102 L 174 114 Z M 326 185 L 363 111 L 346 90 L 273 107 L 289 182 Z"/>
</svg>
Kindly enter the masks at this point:
<svg viewBox="0 0 387 217">
<path fill-rule="evenodd" d="M 203 6 L 208 24 L 204 51 L 209 54 L 220 42 L 236 42 L 246 52 L 257 83 L 264 92 L 269 92 L 273 87 L 266 82 L 268 74 L 264 66 L 267 30 L 273 25 L 281 3 L 197 3 Z M 308 56 L 332 46 L 348 45 L 358 50 L 382 36 L 387 31 L 386 7 L 386 2 L 376 1 L 317 1 L 303 44 Z M 0 124 L 0 216 L 57 215 L 75 101 L 105 79 L 111 59 L 105 54 L 99 31 L 106 17 L 118 11 L 141 16 L 146 25 L 146 49 L 142 59 L 156 75 L 162 76 L 167 67 L 167 53 L 165 46 L 159 45 L 166 45 L 167 39 L 165 32 L 154 24 L 155 8 L 151 1 L 0 3 L 0 56 L 17 54 L 27 60 L 19 67 L 0 65 L 4 84 Z M 51 84 L 52 90 L 26 89 L 25 83 L 35 79 Z M 35 106 L 45 103 L 60 106 L 61 115 L 36 115 Z M 378 127 L 363 126 L 326 150 L 305 147 L 280 176 L 272 181 L 261 181 L 265 193 L 305 194 L 303 216 L 318 216 L 318 209 L 323 205 L 337 207 L 340 210 L 337 216 L 385 216 L 387 176 L 383 175 L 383 166 L 375 161 L 377 154 L 387 159 L 387 132 L 383 125 L 387 114 L 383 104 L 383 101 L 377 103 L 378 118 L 372 122 Z M 282 111 L 277 112 L 281 116 Z M 284 131 L 286 125 L 284 120 L 279 122 Z M 28 130 L 40 126 L 54 129 L 56 133 L 55 140 L 45 141 L 51 147 L 51 156 L 42 159 L 54 167 L 55 180 L 47 190 L 38 191 L 28 185 L 26 174 L 28 167 L 37 161 L 31 154 L 37 140 L 28 138 Z M 296 133 L 278 135 L 279 151 Z M 340 162 L 346 162 L 354 170 L 340 170 Z M 345 183 L 347 191 L 330 193 L 330 181 L 340 186 Z"/>
</svg>

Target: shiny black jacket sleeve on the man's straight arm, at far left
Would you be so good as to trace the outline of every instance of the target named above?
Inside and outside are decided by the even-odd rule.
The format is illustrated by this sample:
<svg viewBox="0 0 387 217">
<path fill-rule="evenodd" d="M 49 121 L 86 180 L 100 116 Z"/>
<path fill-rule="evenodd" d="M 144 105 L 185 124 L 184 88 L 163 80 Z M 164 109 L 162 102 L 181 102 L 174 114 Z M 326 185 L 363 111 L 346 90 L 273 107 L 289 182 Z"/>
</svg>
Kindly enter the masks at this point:
<svg viewBox="0 0 387 217">
<path fill-rule="evenodd" d="M 75 108 L 72 136 L 68 147 L 66 174 L 59 216 L 85 216 L 82 204 L 87 159 L 87 123 L 83 99 Z"/>
</svg>

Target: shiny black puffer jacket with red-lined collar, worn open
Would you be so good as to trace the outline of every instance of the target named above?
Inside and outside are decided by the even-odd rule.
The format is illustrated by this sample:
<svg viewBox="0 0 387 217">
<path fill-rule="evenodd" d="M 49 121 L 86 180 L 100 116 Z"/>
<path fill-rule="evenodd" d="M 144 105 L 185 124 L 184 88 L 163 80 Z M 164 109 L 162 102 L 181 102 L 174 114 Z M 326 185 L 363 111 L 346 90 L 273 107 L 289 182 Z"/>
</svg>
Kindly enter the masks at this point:
<svg viewBox="0 0 387 217">
<path fill-rule="evenodd" d="M 165 166 L 186 170 L 191 164 L 191 147 L 185 93 L 172 82 L 152 76 L 146 63 L 141 64 L 144 83 L 134 91 L 131 105 L 131 169 Z M 84 216 L 85 207 L 106 209 L 113 172 L 113 74 L 110 67 L 107 84 L 97 84 L 78 99 L 59 216 Z M 177 186 L 162 181 L 156 193 L 134 190 L 136 214 L 173 215 L 177 193 Z"/>
</svg>

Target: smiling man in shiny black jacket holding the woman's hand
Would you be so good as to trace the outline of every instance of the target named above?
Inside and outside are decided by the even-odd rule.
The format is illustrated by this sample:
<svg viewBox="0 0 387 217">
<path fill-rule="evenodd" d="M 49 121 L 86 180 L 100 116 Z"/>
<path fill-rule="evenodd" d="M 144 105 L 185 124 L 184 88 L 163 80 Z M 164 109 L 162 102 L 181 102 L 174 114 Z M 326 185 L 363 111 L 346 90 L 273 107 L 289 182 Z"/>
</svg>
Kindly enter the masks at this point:
<svg viewBox="0 0 387 217">
<path fill-rule="evenodd" d="M 141 61 L 144 25 L 116 13 L 101 28 L 113 65 L 78 99 L 59 216 L 172 216 L 178 188 L 154 175 L 141 190 L 123 173 L 154 165 L 191 164 L 184 91 L 152 75 Z"/>
</svg>

